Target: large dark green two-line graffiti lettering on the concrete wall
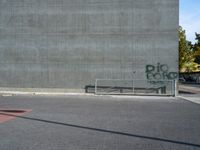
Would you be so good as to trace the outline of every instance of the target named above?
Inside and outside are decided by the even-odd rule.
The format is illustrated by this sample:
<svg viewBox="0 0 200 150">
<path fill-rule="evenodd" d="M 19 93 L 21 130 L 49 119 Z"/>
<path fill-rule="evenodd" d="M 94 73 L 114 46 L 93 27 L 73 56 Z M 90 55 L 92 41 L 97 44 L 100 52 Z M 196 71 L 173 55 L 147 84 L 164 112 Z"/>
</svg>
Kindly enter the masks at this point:
<svg viewBox="0 0 200 150">
<path fill-rule="evenodd" d="M 170 72 L 168 65 L 157 63 L 157 65 L 146 65 L 146 77 L 148 80 L 174 80 L 177 72 Z"/>
</svg>

